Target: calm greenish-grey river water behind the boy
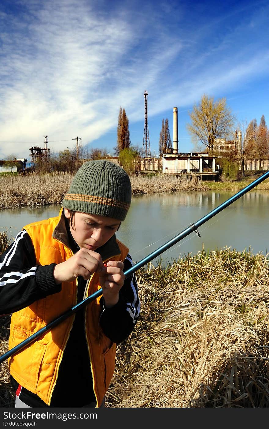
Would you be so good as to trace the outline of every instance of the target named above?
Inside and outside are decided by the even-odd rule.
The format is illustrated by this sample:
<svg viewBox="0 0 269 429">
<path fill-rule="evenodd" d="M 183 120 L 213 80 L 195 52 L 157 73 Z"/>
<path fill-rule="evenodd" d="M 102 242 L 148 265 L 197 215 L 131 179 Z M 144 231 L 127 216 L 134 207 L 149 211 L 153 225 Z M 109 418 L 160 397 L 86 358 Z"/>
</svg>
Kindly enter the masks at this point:
<svg viewBox="0 0 269 429">
<path fill-rule="evenodd" d="M 192 223 L 233 196 L 230 191 L 174 192 L 133 197 L 131 208 L 117 232 L 135 262 L 164 245 Z M 269 252 L 269 192 L 252 190 L 161 254 L 164 264 L 187 254 L 230 247 L 251 253 Z M 30 222 L 56 216 L 60 205 L 0 211 L 0 231 L 14 237 Z M 157 263 L 160 257 L 152 260 Z"/>
</svg>

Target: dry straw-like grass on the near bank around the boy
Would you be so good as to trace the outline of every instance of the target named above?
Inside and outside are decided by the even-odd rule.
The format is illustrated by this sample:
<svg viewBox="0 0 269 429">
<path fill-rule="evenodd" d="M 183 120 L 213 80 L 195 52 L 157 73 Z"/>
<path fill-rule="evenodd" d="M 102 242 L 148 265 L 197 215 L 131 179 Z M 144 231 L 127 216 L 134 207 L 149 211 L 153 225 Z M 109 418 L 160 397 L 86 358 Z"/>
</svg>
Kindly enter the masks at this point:
<svg viewBox="0 0 269 429">
<path fill-rule="evenodd" d="M 108 407 L 269 407 L 268 258 L 201 252 L 136 275 L 141 316 L 117 346 Z M 8 317 L 1 318 L 1 354 Z M 6 361 L 0 406 L 14 407 Z"/>
</svg>

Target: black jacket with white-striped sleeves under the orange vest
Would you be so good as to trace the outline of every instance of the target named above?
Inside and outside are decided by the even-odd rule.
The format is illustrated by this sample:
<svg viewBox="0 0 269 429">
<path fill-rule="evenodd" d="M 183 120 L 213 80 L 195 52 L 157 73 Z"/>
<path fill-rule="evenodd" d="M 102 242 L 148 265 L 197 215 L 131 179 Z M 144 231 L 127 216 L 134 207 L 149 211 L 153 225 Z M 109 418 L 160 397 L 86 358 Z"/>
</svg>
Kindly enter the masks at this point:
<svg viewBox="0 0 269 429">
<path fill-rule="evenodd" d="M 75 253 L 78 245 L 73 240 L 68 223 L 66 230 L 69 245 Z M 112 237 L 115 240 L 115 236 Z M 104 249 L 97 249 L 101 255 Z M 104 259 L 104 258 L 103 258 Z M 38 299 L 57 293 L 53 277 L 54 263 L 48 266 L 37 266 L 33 243 L 25 230 L 21 231 L 15 241 L 0 256 L 0 314 L 9 314 L 25 308 Z M 133 265 L 127 255 L 124 271 Z M 78 302 L 83 299 L 86 281 L 78 278 Z M 105 308 L 100 316 L 100 326 L 105 335 L 115 343 L 124 341 L 134 329 L 140 313 L 140 300 L 135 275 L 127 278 L 120 290 L 119 302 L 112 308 Z M 130 303 L 132 311 L 130 311 Z M 70 377 L 70 371 L 72 377 Z M 20 399 L 31 407 L 47 407 L 35 394 L 19 387 L 14 378 L 11 383 L 20 391 Z M 75 314 L 75 322 L 66 345 L 60 365 L 57 384 L 51 400 L 51 407 L 81 407 L 95 401 L 93 381 L 90 371 L 90 360 L 84 335 L 83 310 Z"/>
</svg>

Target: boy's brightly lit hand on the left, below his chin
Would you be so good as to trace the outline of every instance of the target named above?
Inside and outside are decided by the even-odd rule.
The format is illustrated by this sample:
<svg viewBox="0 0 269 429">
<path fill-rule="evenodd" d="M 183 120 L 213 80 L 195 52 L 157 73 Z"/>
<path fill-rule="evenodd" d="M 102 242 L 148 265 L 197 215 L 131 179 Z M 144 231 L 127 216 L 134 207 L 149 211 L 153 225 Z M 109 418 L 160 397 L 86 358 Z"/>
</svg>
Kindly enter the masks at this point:
<svg viewBox="0 0 269 429">
<path fill-rule="evenodd" d="M 103 261 L 99 253 L 81 248 L 71 258 L 55 266 L 54 278 L 57 284 L 75 280 L 79 275 L 84 280 L 88 280 L 94 272 L 99 271 L 102 267 Z"/>
</svg>

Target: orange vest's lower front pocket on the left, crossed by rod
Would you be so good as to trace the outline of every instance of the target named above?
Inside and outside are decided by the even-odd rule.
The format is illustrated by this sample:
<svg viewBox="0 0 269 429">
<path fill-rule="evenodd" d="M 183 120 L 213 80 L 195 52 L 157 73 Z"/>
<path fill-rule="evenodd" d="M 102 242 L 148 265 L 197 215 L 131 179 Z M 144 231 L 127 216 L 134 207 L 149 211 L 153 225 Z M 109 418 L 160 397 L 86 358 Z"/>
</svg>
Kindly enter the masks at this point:
<svg viewBox="0 0 269 429">
<path fill-rule="evenodd" d="M 11 348 L 28 338 L 32 332 L 14 326 Z M 36 390 L 38 375 L 46 346 L 39 341 L 26 346 L 12 356 L 9 361 L 10 371 L 14 378 L 28 390 Z M 18 375 L 18 377 L 16 377 Z"/>
</svg>

